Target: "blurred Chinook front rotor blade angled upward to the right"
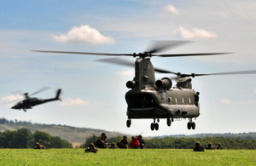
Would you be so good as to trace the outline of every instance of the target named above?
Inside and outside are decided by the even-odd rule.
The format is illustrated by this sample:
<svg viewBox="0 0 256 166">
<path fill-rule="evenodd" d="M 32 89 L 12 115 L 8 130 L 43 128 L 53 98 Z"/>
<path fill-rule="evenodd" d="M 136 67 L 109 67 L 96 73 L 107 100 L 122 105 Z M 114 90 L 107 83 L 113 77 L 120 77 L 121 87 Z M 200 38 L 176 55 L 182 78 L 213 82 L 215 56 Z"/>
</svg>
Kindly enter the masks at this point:
<svg viewBox="0 0 256 166">
<path fill-rule="evenodd" d="M 148 49 L 147 53 L 149 54 L 154 54 L 154 53 L 158 53 L 164 49 L 174 49 L 177 46 L 183 45 L 185 43 L 190 43 L 190 41 L 152 41 L 148 44 L 148 47 L 150 49 Z"/>
</svg>

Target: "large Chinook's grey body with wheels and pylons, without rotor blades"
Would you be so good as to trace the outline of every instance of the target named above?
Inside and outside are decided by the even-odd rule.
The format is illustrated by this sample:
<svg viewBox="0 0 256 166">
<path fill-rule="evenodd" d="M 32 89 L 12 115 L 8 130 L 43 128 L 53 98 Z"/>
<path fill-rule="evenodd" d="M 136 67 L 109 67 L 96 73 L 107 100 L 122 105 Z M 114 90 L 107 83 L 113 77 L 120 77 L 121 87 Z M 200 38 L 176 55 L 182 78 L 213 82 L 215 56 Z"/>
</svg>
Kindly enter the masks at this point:
<svg viewBox="0 0 256 166">
<path fill-rule="evenodd" d="M 189 118 L 188 129 L 195 129 L 192 118 L 199 117 L 200 109 L 198 94 L 192 89 L 191 79 L 183 78 L 172 87 L 171 79 L 164 77 L 155 82 L 154 66 L 150 58 L 137 58 L 135 63 L 135 77 L 126 83 L 130 88 L 125 94 L 127 103 L 127 127 L 131 126 L 132 118 L 153 118 L 151 129 L 158 130 L 160 118 L 166 118 L 171 126 L 174 118 Z"/>
</svg>

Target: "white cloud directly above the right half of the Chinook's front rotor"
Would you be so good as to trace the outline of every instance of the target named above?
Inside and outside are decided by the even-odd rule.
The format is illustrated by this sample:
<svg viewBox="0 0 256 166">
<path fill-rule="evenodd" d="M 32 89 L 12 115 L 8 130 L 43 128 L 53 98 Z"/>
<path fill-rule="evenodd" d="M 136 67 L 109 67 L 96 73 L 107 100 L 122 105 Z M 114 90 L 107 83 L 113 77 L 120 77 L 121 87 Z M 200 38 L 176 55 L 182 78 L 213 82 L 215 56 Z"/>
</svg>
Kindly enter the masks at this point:
<svg viewBox="0 0 256 166">
<path fill-rule="evenodd" d="M 214 38 L 217 35 L 211 31 L 193 28 L 192 31 L 180 26 L 174 33 L 179 33 L 183 38 Z"/>
</svg>

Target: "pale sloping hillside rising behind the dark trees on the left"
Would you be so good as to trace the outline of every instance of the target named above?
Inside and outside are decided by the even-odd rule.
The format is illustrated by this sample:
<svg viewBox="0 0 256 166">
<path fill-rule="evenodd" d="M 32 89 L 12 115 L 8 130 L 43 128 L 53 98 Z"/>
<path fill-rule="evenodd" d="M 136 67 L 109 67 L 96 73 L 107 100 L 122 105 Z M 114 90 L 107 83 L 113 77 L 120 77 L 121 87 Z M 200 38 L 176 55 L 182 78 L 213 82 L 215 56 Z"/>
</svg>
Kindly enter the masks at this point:
<svg viewBox="0 0 256 166">
<path fill-rule="evenodd" d="M 49 133 L 49 135 L 60 136 L 61 139 L 68 140 L 69 142 L 73 143 L 73 145 L 84 143 L 86 137 L 91 135 L 101 135 L 102 132 L 105 132 L 108 137 L 124 135 L 119 132 L 110 132 L 102 129 L 76 128 L 67 125 L 40 124 L 26 121 L 21 122 L 18 120 L 9 121 L 5 118 L 0 118 L 0 132 L 22 128 L 29 129 L 32 131 L 32 133 L 39 130 Z"/>
</svg>

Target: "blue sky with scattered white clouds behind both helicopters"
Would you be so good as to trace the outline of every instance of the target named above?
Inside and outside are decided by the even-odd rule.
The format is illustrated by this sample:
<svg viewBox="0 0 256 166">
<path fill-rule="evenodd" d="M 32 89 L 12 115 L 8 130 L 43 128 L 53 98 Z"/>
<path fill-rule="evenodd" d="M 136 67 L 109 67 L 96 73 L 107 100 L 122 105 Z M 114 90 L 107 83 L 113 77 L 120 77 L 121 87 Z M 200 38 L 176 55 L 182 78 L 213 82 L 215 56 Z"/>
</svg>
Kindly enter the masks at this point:
<svg viewBox="0 0 256 166">
<path fill-rule="evenodd" d="M 256 132 L 256 75 L 195 77 L 201 115 L 196 129 L 188 120 L 151 131 L 153 119 L 132 119 L 126 128 L 125 87 L 134 68 L 96 61 L 106 56 L 42 54 L 31 50 L 61 50 L 132 54 L 147 50 L 152 40 L 190 41 L 165 54 L 228 52 L 218 56 L 151 59 L 173 72 L 211 73 L 256 70 L 256 2 L 245 0 L 104 1 L 1 0 L 0 117 L 9 120 L 106 129 L 129 135 L 194 135 Z M 135 61 L 133 57 L 125 57 Z M 156 77 L 172 77 L 156 73 Z M 16 92 L 50 89 L 34 95 L 55 96 L 61 102 L 12 110 Z"/>
</svg>

